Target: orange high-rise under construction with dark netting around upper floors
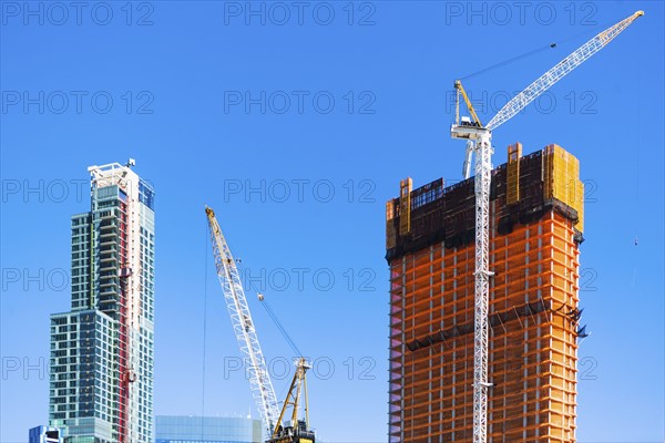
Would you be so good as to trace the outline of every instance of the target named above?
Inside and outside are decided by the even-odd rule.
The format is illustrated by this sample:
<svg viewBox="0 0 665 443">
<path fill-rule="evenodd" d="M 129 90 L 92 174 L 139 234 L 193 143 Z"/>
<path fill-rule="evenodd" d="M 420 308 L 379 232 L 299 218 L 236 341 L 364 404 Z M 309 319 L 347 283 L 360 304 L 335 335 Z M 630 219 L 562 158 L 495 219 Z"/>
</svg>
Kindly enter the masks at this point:
<svg viewBox="0 0 665 443">
<path fill-rule="evenodd" d="M 574 442 L 577 159 L 556 145 L 492 171 L 489 442 Z M 469 442 L 473 427 L 474 179 L 438 179 L 386 206 L 390 442 Z"/>
</svg>

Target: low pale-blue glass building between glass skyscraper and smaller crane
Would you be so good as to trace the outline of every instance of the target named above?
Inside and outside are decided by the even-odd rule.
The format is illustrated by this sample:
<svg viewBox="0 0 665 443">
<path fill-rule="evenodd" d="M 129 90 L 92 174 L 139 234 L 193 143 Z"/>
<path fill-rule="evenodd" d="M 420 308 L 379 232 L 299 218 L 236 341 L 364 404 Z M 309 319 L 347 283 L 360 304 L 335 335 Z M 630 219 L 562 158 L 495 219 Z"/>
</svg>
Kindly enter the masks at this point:
<svg viewBox="0 0 665 443">
<path fill-rule="evenodd" d="M 260 420 L 157 415 L 155 443 L 262 443 Z"/>
</svg>

